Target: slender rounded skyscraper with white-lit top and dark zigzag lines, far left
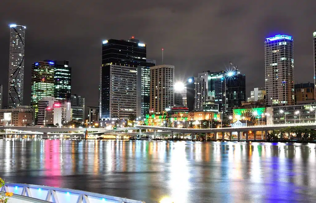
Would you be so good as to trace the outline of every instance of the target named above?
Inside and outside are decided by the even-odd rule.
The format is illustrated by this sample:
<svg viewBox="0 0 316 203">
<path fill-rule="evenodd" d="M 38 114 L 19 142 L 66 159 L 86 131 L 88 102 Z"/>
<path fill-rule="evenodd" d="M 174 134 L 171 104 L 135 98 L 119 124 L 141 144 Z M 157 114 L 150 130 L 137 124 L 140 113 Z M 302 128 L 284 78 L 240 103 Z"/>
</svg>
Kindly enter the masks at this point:
<svg viewBox="0 0 316 203">
<path fill-rule="evenodd" d="M 25 29 L 23 25 L 10 25 L 8 105 L 23 105 Z"/>
</svg>

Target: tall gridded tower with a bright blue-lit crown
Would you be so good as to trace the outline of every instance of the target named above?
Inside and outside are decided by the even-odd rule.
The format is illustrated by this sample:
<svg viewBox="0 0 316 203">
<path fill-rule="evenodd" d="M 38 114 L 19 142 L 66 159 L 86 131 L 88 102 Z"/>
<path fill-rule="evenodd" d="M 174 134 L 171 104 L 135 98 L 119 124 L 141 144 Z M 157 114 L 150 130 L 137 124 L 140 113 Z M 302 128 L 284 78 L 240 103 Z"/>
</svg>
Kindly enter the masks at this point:
<svg viewBox="0 0 316 203">
<path fill-rule="evenodd" d="M 293 37 L 276 35 L 264 42 L 265 90 L 268 105 L 294 104 Z"/>
</svg>

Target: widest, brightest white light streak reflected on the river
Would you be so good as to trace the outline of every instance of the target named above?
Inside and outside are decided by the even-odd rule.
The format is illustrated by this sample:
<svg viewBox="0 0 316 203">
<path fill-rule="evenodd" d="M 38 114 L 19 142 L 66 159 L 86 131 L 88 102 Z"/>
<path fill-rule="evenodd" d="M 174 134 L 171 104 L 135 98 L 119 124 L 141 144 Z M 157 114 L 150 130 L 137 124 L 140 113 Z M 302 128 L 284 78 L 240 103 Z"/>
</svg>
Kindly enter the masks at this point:
<svg viewBox="0 0 316 203">
<path fill-rule="evenodd" d="M 189 193 L 188 161 L 185 158 L 185 142 L 174 142 L 171 153 L 170 186 L 171 199 L 176 202 L 187 202 Z"/>
</svg>

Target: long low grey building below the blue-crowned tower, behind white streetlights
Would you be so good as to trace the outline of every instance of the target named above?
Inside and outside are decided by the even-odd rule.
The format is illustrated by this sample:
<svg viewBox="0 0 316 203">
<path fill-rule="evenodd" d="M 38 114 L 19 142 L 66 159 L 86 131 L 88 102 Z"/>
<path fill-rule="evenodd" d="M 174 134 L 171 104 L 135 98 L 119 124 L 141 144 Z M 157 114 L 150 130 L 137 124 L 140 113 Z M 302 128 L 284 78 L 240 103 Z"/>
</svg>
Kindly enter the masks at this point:
<svg viewBox="0 0 316 203">
<path fill-rule="evenodd" d="M 267 113 L 271 115 L 267 124 L 297 124 L 316 122 L 316 104 L 297 104 L 291 106 L 267 107 Z"/>
</svg>

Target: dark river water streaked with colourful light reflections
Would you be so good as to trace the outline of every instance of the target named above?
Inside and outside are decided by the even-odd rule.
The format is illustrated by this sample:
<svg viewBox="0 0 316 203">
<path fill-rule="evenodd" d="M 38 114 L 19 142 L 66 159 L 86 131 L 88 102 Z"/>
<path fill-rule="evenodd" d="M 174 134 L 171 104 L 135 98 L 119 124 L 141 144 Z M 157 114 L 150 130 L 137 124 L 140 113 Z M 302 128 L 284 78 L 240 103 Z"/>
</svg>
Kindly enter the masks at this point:
<svg viewBox="0 0 316 203">
<path fill-rule="evenodd" d="M 0 139 L 0 177 L 158 202 L 316 202 L 316 144 Z"/>
</svg>

